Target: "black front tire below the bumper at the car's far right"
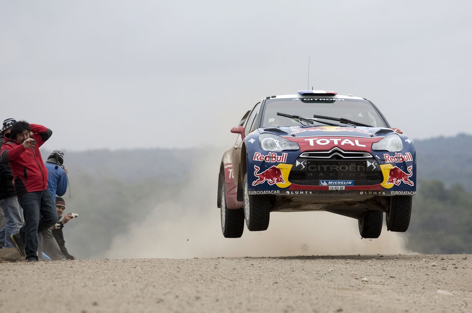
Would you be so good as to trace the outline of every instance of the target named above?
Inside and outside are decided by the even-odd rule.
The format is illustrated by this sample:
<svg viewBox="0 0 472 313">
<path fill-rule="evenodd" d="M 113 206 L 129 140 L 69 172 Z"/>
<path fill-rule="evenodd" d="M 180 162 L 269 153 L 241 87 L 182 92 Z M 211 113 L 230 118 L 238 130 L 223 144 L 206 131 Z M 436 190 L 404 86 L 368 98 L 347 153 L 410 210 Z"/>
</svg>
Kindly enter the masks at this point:
<svg viewBox="0 0 472 313">
<path fill-rule="evenodd" d="M 412 215 L 412 196 L 393 196 L 390 209 L 385 215 L 389 231 L 405 232 L 410 226 Z"/>
</svg>

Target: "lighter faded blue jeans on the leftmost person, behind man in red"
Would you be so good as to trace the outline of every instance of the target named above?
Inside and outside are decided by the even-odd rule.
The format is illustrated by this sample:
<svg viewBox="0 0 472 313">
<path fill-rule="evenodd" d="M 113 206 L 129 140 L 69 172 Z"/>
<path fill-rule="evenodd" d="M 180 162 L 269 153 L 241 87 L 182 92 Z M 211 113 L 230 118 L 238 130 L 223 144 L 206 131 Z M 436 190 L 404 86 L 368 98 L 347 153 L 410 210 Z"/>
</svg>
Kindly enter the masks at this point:
<svg viewBox="0 0 472 313">
<path fill-rule="evenodd" d="M 14 248 L 10 235 L 17 233 L 23 225 L 23 210 L 18 204 L 17 196 L 1 199 L 0 207 L 5 214 L 5 227 L 0 231 L 0 242 L 5 239 L 5 247 Z"/>
</svg>

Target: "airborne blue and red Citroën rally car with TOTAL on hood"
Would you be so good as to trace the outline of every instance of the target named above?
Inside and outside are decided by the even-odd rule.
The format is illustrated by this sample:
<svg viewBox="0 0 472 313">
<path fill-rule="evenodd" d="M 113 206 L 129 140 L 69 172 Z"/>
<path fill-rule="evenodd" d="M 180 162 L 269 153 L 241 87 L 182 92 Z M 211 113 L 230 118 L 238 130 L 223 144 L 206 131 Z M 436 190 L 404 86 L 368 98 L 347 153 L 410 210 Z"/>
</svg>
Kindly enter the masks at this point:
<svg viewBox="0 0 472 313">
<path fill-rule="evenodd" d="M 262 99 L 231 129 L 218 207 L 227 238 L 264 231 L 270 212 L 328 211 L 358 220 L 363 238 L 406 231 L 416 193 L 413 140 L 368 99 L 298 91 Z"/>
</svg>

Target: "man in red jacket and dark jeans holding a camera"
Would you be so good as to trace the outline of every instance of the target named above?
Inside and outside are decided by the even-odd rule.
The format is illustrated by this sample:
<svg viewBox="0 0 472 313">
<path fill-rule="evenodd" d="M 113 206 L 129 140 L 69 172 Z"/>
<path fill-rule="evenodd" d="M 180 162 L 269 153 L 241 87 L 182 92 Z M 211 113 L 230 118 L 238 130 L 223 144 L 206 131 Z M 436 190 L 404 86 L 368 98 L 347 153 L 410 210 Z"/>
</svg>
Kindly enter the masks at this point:
<svg viewBox="0 0 472 313">
<path fill-rule="evenodd" d="M 39 147 L 51 135 L 52 131 L 44 126 L 18 121 L 11 127 L 0 150 L 1 159 L 9 163 L 13 173 L 13 184 L 25 217 L 25 225 L 12 234 L 11 239 L 27 261 L 38 261 L 37 233 L 58 220 L 54 201 L 47 190 L 48 170 L 39 152 Z"/>
</svg>

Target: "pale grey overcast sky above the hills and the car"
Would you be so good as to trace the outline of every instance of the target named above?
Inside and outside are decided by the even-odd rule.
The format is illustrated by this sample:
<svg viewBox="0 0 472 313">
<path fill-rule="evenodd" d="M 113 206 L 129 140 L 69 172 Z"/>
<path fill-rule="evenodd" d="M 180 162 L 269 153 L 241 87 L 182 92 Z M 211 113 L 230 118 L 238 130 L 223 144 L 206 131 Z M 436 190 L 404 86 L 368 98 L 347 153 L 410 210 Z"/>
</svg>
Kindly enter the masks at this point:
<svg viewBox="0 0 472 313">
<path fill-rule="evenodd" d="M 48 149 L 229 148 L 311 55 L 310 89 L 415 139 L 472 133 L 471 1 L 227 2 L 0 0 L 0 120 L 51 128 Z"/>
</svg>

